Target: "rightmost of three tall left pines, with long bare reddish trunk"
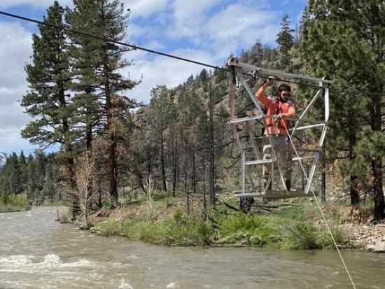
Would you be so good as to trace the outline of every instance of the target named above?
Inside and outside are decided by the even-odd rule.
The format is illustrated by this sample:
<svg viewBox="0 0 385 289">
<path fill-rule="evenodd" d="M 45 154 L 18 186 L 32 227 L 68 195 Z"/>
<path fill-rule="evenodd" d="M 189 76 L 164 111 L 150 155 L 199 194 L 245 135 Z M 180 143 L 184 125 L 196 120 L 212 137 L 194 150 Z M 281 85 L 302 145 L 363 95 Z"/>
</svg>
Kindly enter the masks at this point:
<svg viewBox="0 0 385 289">
<path fill-rule="evenodd" d="M 76 56 L 76 62 L 85 65 L 84 59 L 87 59 L 88 66 L 83 66 L 79 71 L 80 78 L 85 87 L 90 87 L 93 83 L 94 89 L 98 92 L 98 104 L 95 106 L 98 111 L 100 110 L 100 124 L 106 132 L 109 193 L 111 206 L 116 208 L 118 206 L 117 141 L 118 127 L 121 125 L 119 115 L 123 115 L 123 111 L 127 111 L 128 108 L 136 106 L 131 99 L 123 98 L 122 92 L 132 89 L 138 82 L 125 78 L 120 72 L 131 64 L 123 59 L 123 53 L 131 49 L 120 47 L 109 40 L 123 41 L 128 15 L 125 13 L 123 4 L 118 0 L 92 2 L 76 0 L 73 3 L 75 4 L 73 10 L 67 10 L 69 24 L 73 27 L 83 27 L 83 30 L 90 34 L 102 36 L 102 39 L 76 37 L 76 42 L 83 46 L 83 50 L 80 50 L 80 54 Z M 93 57 L 87 55 L 90 51 Z M 88 72 L 85 73 L 85 71 Z M 95 75 L 92 76 L 92 73 Z M 89 125 L 90 122 L 86 121 L 86 124 Z"/>
</svg>

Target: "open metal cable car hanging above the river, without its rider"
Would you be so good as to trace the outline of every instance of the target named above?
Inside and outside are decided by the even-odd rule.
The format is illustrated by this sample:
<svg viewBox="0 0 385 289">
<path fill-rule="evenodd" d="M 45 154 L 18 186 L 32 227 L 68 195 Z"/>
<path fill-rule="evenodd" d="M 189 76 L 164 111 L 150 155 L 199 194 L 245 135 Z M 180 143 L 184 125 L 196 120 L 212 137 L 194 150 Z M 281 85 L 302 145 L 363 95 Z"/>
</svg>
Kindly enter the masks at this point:
<svg viewBox="0 0 385 289">
<path fill-rule="evenodd" d="M 235 193 L 235 197 L 241 199 L 254 197 L 269 199 L 314 197 L 316 192 L 312 190 L 311 183 L 314 179 L 323 141 L 325 140 L 329 120 L 329 87 L 332 80 L 263 69 L 238 62 L 235 57 L 228 59 L 228 68 L 232 71 L 232 81 L 230 81 L 230 125 L 241 155 L 241 190 Z M 293 127 L 287 128 L 288 139 L 290 140 L 288 148 L 277 148 L 275 146 L 274 135 L 270 134 L 267 128 L 267 119 L 274 116 L 265 114 L 262 104 L 255 98 L 253 90 L 248 85 L 249 80 L 244 77 L 245 75 L 252 75 L 254 80 L 273 76 L 282 81 L 293 82 L 293 80 L 296 80 L 317 87 L 316 94 L 314 97 L 309 98 L 303 111 L 299 112 L 296 108 L 296 114 L 299 116 L 290 119 L 293 122 Z M 239 118 L 235 111 L 242 99 L 239 96 L 237 97 L 240 92 L 246 92 L 246 98 L 251 99 L 255 108 L 253 113 Z M 320 104 L 323 105 L 323 119 L 308 118 L 309 111 L 312 111 L 314 104 L 318 104 L 318 108 Z M 259 132 L 263 130 L 267 130 L 267 134 L 258 136 Z M 318 140 L 314 141 L 313 139 L 312 143 L 303 141 L 303 137 L 306 136 L 309 130 L 315 130 L 319 133 Z M 271 157 L 264 157 L 264 146 L 271 148 Z M 287 153 L 293 156 L 291 160 L 295 180 L 289 190 L 277 158 L 282 150 L 288 150 Z M 269 166 L 268 181 L 266 181 L 266 178 L 262 178 L 263 166 Z M 309 191 L 312 193 L 309 193 Z"/>
</svg>

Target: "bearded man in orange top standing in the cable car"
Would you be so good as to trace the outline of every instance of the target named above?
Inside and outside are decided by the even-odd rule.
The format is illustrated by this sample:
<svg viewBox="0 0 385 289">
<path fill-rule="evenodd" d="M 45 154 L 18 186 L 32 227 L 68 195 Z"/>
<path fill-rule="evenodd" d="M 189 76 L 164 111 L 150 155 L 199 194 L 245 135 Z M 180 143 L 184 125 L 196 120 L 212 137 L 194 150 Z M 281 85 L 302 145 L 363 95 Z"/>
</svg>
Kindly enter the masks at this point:
<svg viewBox="0 0 385 289">
<path fill-rule="evenodd" d="M 276 159 L 281 168 L 283 178 L 285 179 L 286 188 L 291 187 L 291 150 L 290 141 L 288 139 L 288 129 L 290 127 L 290 118 L 295 118 L 295 105 L 291 98 L 291 88 L 289 85 L 279 85 L 279 93 L 276 99 L 266 97 L 264 92 L 268 86 L 271 86 L 274 78 L 269 76 L 260 89 L 255 92 L 255 97 L 266 108 L 266 125 L 265 136 L 270 134 L 272 143 L 276 153 Z M 272 148 L 270 145 L 263 146 L 263 159 L 272 158 Z M 263 179 L 265 186 L 269 182 L 271 175 L 271 164 L 263 166 Z M 269 185 L 271 188 L 271 182 Z"/>
</svg>

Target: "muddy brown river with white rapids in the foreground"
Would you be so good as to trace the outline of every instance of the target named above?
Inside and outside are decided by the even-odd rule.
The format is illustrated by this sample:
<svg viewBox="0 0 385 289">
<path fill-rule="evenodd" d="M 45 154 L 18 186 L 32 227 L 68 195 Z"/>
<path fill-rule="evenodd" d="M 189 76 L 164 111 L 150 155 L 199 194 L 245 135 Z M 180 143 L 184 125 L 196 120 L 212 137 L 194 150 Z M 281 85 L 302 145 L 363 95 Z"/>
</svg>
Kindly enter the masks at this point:
<svg viewBox="0 0 385 289">
<path fill-rule="evenodd" d="M 352 288 L 335 251 L 169 248 L 0 214 L 0 288 Z M 357 288 L 385 288 L 385 255 L 344 251 Z"/>
</svg>

